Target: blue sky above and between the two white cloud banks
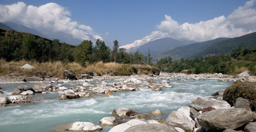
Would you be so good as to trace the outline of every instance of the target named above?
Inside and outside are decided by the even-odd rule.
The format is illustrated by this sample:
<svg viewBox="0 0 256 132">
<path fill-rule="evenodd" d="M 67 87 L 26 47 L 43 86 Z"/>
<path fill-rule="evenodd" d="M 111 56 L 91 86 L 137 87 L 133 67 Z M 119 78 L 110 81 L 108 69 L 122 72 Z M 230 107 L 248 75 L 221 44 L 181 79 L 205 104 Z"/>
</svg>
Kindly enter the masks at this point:
<svg viewBox="0 0 256 132">
<path fill-rule="evenodd" d="M 7 6 L 11 4 L 17 4 L 17 2 L 18 1 L 14 1 L 14 0 L 1 0 L 0 4 L 1 6 Z M 164 33 L 163 35 L 164 28 L 169 29 L 169 27 L 164 27 L 163 24 L 169 22 L 168 25 L 171 26 L 170 24 L 171 22 L 176 22 L 180 27 L 184 28 L 183 24 L 188 22 L 188 24 L 190 24 L 189 25 L 190 27 L 193 24 L 195 24 L 193 25 L 193 27 L 196 27 L 196 24 L 200 24 L 200 22 L 207 22 L 209 20 L 214 20 L 214 18 L 219 18 L 221 16 L 223 16 L 224 18 L 219 18 L 219 20 L 226 21 L 227 18 L 230 16 L 230 14 L 238 10 L 239 7 L 245 7 L 246 5 L 246 1 L 243 1 L 243 0 L 225 0 L 225 1 L 223 0 L 214 0 L 214 1 L 206 1 L 206 0 L 196 0 L 196 1 L 185 1 L 185 0 L 179 0 L 179 1 L 171 1 L 171 0 L 166 0 L 166 1 L 163 1 L 163 0 L 160 0 L 160 1 L 157 1 L 157 0 L 155 1 L 150 1 L 150 0 L 149 1 L 146 1 L 146 0 L 47 1 L 46 0 L 45 1 L 44 0 L 44 1 L 35 1 L 35 0 L 27 0 L 22 2 L 24 2 L 24 4 L 26 4 L 27 7 L 29 5 L 33 5 L 33 7 L 40 7 L 50 2 L 54 2 L 55 4 L 59 5 L 59 7 L 57 8 L 63 8 L 64 11 L 69 12 L 68 15 L 67 14 L 64 14 L 64 15 L 70 18 L 70 22 L 73 22 L 73 21 L 77 22 L 77 26 L 74 26 L 74 28 L 79 27 L 79 25 L 89 26 L 90 31 L 84 30 L 85 32 L 87 33 L 89 32 L 89 34 L 94 34 L 95 36 L 103 38 L 108 43 L 112 43 L 112 41 L 116 39 L 119 41 L 120 45 L 132 44 L 135 42 L 135 40 L 142 40 L 142 41 L 138 41 L 139 44 L 142 44 L 142 43 L 146 43 L 147 41 L 152 41 L 161 37 L 173 37 L 173 38 L 176 37 L 177 39 L 188 39 L 193 41 L 204 41 L 207 39 L 211 39 L 211 37 L 207 37 L 207 36 L 205 38 L 195 37 L 195 36 L 185 38 L 185 37 L 181 37 L 180 35 L 179 36 L 175 35 L 173 31 L 171 32 L 167 31 L 168 35 L 166 35 L 166 33 Z M 251 4 L 249 8 L 255 10 L 255 1 L 252 1 L 252 3 L 253 4 Z M 18 5 L 22 5 L 22 4 L 18 4 Z M 23 8 L 26 8 L 26 7 L 23 7 Z M 252 14 L 250 18 L 254 19 L 255 15 L 256 14 Z M 4 18 L 3 16 L 4 15 L 1 15 L 0 13 L 0 21 L 7 21 L 7 20 L 17 21 L 17 19 Z M 1 17 L 3 18 L 1 19 Z M 27 20 L 23 20 L 22 22 L 27 22 Z M 29 24 L 29 23 L 26 23 L 26 24 Z M 33 24 L 35 25 L 34 27 L 36 28 L 35 22 Z M 235 28 L 236 28 L 236 25 L 239 25 L 239 24 L 233 24 L 233 25 L 235 25 Z M 220 25 L 216 25 L 216 26 L 220 27 Z M 244 30 L 243 27 L 239 27 L 239 28 L 242 28 Z M 189 29 L 191 30 L 191 28 Z M 251 29 L 251 31 L 249 31 L 248 27 L 245 29 L 246 31 L 244 30 L 244 31 L 241 31 L 241 33 L 237 33 L 237 34 L 232 34 L 232 35 L 229 35 L 228 33 L 217 34 L 217 35 L 214 34 L 214 36 L 216 37 L 233 37 L 234 36 L 235 37 L 241 34 L 255 31 L 255 29 Z M 40 31 L 42 29 L 38 29 L 38 30 Z M 162 35 L 159 35 L 159 33 L 157 33 L 158 35 L 155 35 L 155 37 L 147 37 L 151 35 L 154 36 L 154 31 L 161 31 Z M 204 36 L 205 33 L 204 31 L 201 31 L 201 33 L 199 34 L 201 34 L 201 36 Z M 73 36 L 76 36 L 76 34 L 73 33 Z M 213 35 L 209 34 L 209 36 L 213 36 Z M 86 38 L 86 37 L 83 37 L 83 38 Z M 92 38 L 92 37 L 88 37 L 88 38 Z M 146 38 L 148 40 L 146 40 Z"/>
</svg>

